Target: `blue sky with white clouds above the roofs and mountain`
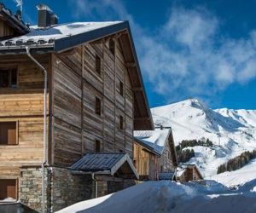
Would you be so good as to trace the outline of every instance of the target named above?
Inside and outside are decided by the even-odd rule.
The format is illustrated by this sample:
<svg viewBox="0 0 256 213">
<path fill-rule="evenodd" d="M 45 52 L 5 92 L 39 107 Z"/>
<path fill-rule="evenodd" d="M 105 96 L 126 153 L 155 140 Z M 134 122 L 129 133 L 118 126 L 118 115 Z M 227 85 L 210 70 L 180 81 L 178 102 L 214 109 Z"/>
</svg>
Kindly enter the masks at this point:
<svg viewBox="0 0 256 213">
<path fill-rule="evenodd" d="M 196 97 L 256 109 L 254 0 L 24 0 L 27 22 L 36 23 L 38 3 L 61 23 L 130 20 L 151 107 Z"/>
</svg>

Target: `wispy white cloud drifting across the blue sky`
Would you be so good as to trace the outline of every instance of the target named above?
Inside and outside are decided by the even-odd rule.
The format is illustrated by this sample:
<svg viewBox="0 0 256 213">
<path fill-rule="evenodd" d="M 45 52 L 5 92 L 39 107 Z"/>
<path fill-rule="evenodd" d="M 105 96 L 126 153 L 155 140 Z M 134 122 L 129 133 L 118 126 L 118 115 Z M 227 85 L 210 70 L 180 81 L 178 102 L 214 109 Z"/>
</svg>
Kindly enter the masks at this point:
<svg viewBox="0 0 256 213">
<path fill-rule="evenodd" d="M 149 34 L 120 1 L 71 1 L 77 17 L 131 21 L 143 76 L 168 101 L 209 101 L 232 83 L 256 78 L 256 31 L 247 38 L 222 37 L 218 17 L 206 9 L 173 7 L 166 23 Z"/>
</svg>

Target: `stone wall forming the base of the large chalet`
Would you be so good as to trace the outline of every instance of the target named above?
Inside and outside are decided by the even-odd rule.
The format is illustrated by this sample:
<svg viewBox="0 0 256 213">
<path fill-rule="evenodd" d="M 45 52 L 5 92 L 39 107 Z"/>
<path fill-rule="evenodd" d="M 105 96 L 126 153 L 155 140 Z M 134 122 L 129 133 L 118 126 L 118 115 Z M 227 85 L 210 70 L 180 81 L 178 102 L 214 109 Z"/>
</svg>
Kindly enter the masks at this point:
<svg viewBox="0 0 256 213">
<path fill-rule="evenodd" d="M 42 173 L 40 167 L 21 168 L 20 174 L 20 203 L 32 210 L 41 211 L 42 201 Z M 95 193 L 95 181 L 90 175 L 73 175 L 66 168 L 45 168 L 45 199 L 47 212 L 55 212 L 86 199 L 93 199 Z M 134 180 L 125 181 L 97 181 L 97 196 L 114 193 L 125 187 L 134 185 Z"/>
</svg>

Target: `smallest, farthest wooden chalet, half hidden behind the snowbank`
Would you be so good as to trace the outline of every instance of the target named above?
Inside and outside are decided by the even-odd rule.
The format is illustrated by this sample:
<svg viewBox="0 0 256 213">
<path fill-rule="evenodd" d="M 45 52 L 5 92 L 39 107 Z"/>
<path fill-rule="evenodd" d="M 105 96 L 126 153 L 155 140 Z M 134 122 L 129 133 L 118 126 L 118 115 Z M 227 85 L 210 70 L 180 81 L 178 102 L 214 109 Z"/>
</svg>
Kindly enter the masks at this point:
<svg viewBox="0 0 256 213">
<path fill-rule="evenodd" d="M 181 164 L 177 168 L 177 181 L 201 181 L 204 180 L 200 170 L 195 164 Z"/>
</svg>

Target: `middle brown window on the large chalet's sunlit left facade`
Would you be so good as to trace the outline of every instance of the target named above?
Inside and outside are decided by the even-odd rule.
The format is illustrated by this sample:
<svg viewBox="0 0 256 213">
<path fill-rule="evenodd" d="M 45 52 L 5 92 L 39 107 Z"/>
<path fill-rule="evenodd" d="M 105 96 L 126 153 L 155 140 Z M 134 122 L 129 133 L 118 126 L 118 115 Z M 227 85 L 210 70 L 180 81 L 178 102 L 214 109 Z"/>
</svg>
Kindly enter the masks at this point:
<svg viewBox="0 0 256 213">
<path fill-rule="evenodd" d="M 18 144 L 16 122 L 0 122 L 0 145 L 16 144 Z"/>
</svg>

